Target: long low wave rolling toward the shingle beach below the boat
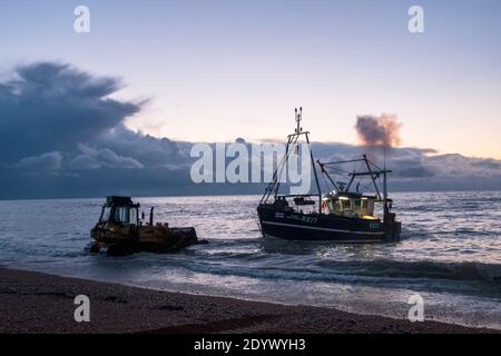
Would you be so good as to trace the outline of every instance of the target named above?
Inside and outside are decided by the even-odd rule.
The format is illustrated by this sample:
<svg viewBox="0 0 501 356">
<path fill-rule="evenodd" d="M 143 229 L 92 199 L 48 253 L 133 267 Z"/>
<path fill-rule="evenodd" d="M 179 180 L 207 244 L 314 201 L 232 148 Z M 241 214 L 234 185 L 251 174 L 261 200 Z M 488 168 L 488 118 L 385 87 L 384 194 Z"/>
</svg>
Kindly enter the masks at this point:
<svg viewBox="0 0 501 356">
<path fill-rule="evenodd" d="M 304 281 L 422 283 L 425 280 L 501 283 L 501 265 L 432 260 L 345 259 L 315 255 L 265 254 L 245 249 L 191 250 L 190 258 L 171 257 L 167 265 L 191 271 L 250 278 Z M 501 291 L 501 290 L 500 290 Z"/>
</svg>

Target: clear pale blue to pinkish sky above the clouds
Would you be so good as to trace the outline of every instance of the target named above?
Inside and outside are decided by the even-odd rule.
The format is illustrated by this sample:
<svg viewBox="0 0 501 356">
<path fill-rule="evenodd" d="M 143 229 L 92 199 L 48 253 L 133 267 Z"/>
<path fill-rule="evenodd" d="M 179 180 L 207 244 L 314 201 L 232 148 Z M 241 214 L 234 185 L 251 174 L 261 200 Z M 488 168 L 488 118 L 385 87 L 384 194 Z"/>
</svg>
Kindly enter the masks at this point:
<svg viewBox="0 0 501 356">
<path fill-rule="evenodd" d="M 73 31 L 79 4 L 90 33 Z M 413 4 L 424 33 L 407 30 Z M 302 106 L 315 141 L 356 144 L 356 117 L 386 112 L 405 147 L 501 159 L 500 13 L 498 0 L 2 1 L 0 79 L 39 61 L 120 78 L 108 95 L 146 101 L 126 127 L 174 141 L 282 139 Z"/>
</svg>

